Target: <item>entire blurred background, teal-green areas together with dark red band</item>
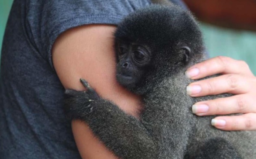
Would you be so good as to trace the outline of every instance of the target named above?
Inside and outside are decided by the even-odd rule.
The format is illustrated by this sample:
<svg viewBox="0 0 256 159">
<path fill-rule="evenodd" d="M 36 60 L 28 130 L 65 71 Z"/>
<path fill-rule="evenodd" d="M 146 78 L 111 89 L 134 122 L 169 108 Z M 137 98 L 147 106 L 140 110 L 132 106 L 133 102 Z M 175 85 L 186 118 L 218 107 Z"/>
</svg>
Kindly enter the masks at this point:
<svg viewBox="0 0 256 159">
<path fill-rule="evenodd" d="M 0 48 L 13 0 L 0 0 Z M 256 74 L 256 0 L 184 0 L 200 20 L 210 57 L 246 61 Z"/>
</svg>

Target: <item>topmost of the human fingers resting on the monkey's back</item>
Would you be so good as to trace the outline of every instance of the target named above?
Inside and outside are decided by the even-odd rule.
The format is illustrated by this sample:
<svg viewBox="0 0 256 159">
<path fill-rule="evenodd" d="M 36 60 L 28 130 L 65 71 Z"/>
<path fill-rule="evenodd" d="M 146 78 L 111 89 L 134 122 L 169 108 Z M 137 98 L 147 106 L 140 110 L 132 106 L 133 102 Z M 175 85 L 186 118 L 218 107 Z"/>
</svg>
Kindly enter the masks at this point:
<svg viewBox="0 0 256 159">
<path fill-rule="evenodd" d="M 213 57 L 195 64 L 186 71 L 186 75 L 191 79 L 200 79 L 214 74 L 254 76 L 245 61 L 223 56 Z"/>
</svg>

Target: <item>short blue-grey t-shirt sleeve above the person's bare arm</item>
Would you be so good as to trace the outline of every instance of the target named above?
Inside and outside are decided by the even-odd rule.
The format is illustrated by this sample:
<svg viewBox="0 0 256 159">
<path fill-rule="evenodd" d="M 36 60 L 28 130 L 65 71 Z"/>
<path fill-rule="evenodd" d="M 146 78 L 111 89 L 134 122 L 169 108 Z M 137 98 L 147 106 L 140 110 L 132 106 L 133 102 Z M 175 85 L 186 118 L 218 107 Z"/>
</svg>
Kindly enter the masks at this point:
<svg viewBox="0 0 256 159">
<path fill-rule="evenodd" d="M 148 0 L 28 0 L 25 27 L 35 49 L 53 68 L 51 49 L 65 30 L 86 24 L 114 24 L 149 5 Z"/>
</svg>

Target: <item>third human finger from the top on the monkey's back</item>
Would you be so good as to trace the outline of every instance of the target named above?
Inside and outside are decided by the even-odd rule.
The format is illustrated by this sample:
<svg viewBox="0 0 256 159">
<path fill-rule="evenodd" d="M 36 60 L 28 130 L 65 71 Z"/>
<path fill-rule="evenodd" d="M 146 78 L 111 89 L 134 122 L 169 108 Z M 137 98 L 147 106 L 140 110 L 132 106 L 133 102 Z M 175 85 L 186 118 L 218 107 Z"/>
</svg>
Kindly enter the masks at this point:
<svg viewBox="0 0 256 159">
<path fill-rule="evenodd" d="M 254 98 L 255 95 L 252 94 L 241 94 L 197 102 L 192 106 L 192 111 L 198 116 L 249 112 L 256 113 Z"/>
</svg>

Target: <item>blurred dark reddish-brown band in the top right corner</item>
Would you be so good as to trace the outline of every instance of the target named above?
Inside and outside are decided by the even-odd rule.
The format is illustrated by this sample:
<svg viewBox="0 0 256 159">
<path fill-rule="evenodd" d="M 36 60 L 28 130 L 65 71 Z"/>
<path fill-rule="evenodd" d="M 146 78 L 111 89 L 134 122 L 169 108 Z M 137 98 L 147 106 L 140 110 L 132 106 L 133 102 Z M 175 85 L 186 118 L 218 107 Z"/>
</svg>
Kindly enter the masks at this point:
<svg viewBox="0 0 256 159">
<path fill-rule="evenodd" d="M 256 31 L 256 0 L 184 0 L 201 21 Z"/>
</svg>

